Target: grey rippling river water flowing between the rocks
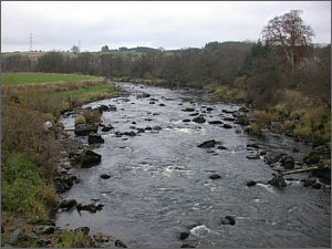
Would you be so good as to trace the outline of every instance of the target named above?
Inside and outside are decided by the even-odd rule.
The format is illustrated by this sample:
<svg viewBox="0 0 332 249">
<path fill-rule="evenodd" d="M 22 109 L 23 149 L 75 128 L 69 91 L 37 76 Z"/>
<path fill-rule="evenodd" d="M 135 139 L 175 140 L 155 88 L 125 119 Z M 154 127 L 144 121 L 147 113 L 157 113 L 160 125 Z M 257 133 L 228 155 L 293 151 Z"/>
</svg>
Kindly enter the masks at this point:
<svg viewBox="0 0 332 249">
<path fill-rule="evenodd" d="M 300 179 L 308 178 L 308 174 L 292 175 L 288 186 L 278 189 L 267 184 L 273 170 L 263 158 L 247 158 L 257 153 L 247 149 L 248 144 L 255 143 L 268 155 L 287 153 L 301 163 L 312 151 L 310 146 L 270 133 L 261 138 L 249 136 L 242 126 L 225 121 L 232 114 L 222 110 L 238 111 L 240 106 L 217 102 L 201 91 L 118 84 L 131 95 L 83 106 L 115 105 L 116 112 L 104 112 L 102 116 L 103 124 L 115 128 L 100 128 L 105 143 L 94 151 L 102 155 L 101 164 L 72 169 L 81 181 L 62 195 L 83 204 L 97 201 L 104 207 L 95 214 L 80 215 L 75 208 L 63 211 L 56 216 L 56 226 L 87 226 L 91 234 L 115 235 L 127 247 L 179 248 L 189 243 L 205 248 L 330 248 L 330 189 L 303 187 Z M 142 92 L 155 100 L 137 97 Z M 183 111 L 186 107 L 204 113 L 207 121 L 221 121 L 232 128 L 183 122 L 194 118 L 189 116 L 193 112 Z M 74 127 L 74 116 L 62 122 L 66 128 Z M 136 136 L 115 135 L 137 133 L 137 128 L 147 126 L 162 129 Z M 197 147 L 209 139 L 220 142 L 217 146 L 227 149 Z M 293 153 L 293 148 L 300 152 Z M 111 178 L 103 179 L 102 174 Z M 212 174 L 221 178 L 210 179 Z M 247 180 L 258 184 L 247 187 Z M 226 216 L 235 217 L 236 225 L 221 224 Z M 189 237 L 180 240 L 180 232 L 188 232 Z"/>
</svg>

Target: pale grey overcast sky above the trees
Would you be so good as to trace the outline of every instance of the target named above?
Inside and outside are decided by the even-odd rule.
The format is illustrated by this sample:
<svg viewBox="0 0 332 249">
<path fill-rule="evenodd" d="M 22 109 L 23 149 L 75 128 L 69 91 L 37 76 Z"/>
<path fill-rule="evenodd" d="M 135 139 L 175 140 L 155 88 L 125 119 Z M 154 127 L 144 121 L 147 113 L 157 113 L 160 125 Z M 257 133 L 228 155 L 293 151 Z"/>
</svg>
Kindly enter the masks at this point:
<svg viewBox="0 0 332 249">
<path fill-rule="evenodd" d="M 257 41 L 269 20 L 290 10 L 331 43 L 331 1 L 1 1 L 1 52 L 166 50 L 211 41 Z"/>
</svg>

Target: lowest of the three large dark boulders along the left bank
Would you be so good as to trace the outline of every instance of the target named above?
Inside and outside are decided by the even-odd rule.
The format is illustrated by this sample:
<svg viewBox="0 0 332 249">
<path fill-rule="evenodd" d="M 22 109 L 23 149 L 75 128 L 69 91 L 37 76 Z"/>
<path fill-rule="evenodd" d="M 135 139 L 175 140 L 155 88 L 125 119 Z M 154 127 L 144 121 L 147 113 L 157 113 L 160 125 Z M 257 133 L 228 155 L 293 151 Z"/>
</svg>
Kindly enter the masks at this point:
<svg viewBox="0 0 332 249">
<path fill-rule="evenodd" d="M 81 164 L 82 167 L 91 167 L 102 160 L 102 156 L 90 148 L 79 146 L 70 154 L 73 163 Z"/>
</svg>

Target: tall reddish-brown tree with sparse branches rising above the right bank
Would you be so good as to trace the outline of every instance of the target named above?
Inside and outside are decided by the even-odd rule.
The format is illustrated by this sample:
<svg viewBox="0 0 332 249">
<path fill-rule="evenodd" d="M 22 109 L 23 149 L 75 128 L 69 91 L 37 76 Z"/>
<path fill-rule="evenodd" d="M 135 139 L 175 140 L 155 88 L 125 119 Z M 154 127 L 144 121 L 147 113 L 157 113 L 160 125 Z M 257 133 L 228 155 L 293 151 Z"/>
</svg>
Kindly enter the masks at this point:
<svg viewBox="0 0 332 249">
<path fill-rule="evenodd" d="M 281 17 L 274 17 L 262 30 L 262 38 L 267 44 L 282 49 L 290 71 L 297 65 L 294 58 L 299 59 L 297 46 L 308 46 L 314 37 L 311 27 L 305 25 L 300 18 L 302 13 L 302 10 L 291 10 Z"/>
</svg>

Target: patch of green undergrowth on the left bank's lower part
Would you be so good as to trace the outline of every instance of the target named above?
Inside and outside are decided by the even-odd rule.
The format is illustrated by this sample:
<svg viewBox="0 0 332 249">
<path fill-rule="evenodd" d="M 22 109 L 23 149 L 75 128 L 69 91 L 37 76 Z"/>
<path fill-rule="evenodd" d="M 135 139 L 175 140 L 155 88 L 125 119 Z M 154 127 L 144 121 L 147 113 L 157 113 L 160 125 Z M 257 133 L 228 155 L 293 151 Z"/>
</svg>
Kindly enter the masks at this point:
<svg viewBox="0 0 332 249">
<path fill-rule="evenodd" d="M 40 177 L 31 155 L 11 155 L 1 173 L 1 207 L 11 214 L 46 220 L 46 209 L 56 206 L 55 190 Z"/>
</svg>

